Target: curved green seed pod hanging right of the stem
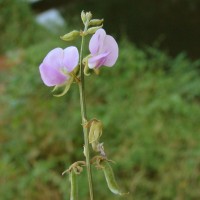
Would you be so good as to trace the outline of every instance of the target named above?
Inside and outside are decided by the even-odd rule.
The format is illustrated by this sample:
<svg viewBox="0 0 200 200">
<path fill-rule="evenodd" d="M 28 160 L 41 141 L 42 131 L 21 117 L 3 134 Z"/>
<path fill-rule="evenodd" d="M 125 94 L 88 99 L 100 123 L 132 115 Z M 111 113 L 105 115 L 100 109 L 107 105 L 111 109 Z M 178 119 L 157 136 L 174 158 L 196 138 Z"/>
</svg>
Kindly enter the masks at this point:
<svg viewBox="0 0 200 200">
<path fill-rule="evenodd" d="M 105 175 L 105 178 L 106 178 L 106 182 L 107 182 L 107 185 L 108 185 L 108 188 L 110 189 L 110 191 L 114 194 L 117 194 L 117 195 L 125 195 L 127 193 L 123 193 L 116 180 L 115 180 L 115 176 L 114 176 L 114 173 L 113 173 L 113 170 L 112 170 L 112 167 L 110 166 L 110 164 L 108 163 L 107 160 L 103 160 L 101 163 L 100 163 L 102 169 L 103 169 L 103 172 L 104 172 L 104 175 Z"/>
</svg>

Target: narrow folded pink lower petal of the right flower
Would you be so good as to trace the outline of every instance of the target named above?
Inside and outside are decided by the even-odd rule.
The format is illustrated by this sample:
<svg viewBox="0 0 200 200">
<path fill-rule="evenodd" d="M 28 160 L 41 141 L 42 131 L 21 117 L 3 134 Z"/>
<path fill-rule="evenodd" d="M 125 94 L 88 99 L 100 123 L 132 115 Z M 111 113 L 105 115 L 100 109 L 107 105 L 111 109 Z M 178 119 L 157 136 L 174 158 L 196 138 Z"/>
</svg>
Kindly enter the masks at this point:
<svg viewBox="0 0 200 200">
<path fill-rule="evenodd" d="M 93 68 L 98 68 L 104 65 L 104 62 L 106 61 L 108 55 L 109 55 L 109 52 L 106 52 L 106 53 L 102 53 L 102 54 L 90 57 L 88 59 L 88 67 L 90 69 L 93 69 Z"/>
</svg>

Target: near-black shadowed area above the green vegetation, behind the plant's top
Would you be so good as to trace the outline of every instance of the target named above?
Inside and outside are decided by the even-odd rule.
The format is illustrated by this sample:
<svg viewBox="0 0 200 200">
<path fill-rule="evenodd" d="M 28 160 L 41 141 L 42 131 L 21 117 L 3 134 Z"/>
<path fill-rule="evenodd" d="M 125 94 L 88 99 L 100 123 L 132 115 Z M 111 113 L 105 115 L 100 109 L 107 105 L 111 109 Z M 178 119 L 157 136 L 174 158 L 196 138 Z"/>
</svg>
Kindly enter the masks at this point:
<svg viewBox="0 0 200 200">
<path fill-rule="evenodd" d="M 51 1 L 51 0 L 50 0 Z M 72 19 L 81 9 L 104 16 L 104 28 L 120 37 L 124 33 L 137 45 L 152 44 L 159 38 L 160 46 L 173 55 L 187 51 L 199 57 L 199 0 L 76 0 L 64 4 L 63 13 Z"/>
</svg>

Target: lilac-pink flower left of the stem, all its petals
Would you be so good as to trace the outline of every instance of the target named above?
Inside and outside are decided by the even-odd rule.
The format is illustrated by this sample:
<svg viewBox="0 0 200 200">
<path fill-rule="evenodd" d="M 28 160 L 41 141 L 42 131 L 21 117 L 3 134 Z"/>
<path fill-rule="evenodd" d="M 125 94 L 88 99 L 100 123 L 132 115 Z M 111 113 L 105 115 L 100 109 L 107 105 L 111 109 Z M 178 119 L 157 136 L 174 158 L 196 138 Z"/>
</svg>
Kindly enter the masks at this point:
<svg viewBox="0 0 200 200">
<path fill-rule="evenodd" d="M 51 50 L 39 67 L 44 84 L 50 87 L 67 82 L 69 73 L 78 65 L 78 61 L 78 49 L 74 46 Z"/>
</svg>

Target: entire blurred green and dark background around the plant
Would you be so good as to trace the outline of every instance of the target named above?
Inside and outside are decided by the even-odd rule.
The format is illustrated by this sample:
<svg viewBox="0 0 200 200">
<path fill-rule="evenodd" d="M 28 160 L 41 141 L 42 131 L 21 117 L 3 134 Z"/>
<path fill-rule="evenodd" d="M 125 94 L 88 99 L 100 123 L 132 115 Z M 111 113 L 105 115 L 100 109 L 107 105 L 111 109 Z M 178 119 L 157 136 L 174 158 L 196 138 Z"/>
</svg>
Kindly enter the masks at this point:
<svg viewBox="0 0 200 200">
<path fill-rule="evenodd" d="M 51 49 L 74 45 L 59 37 L 82 28 L 82 10 L 104 18 L 120 47 L 115 67 L 87 77 L 86 97 L 130 194 L 111 194 L 93 169 L 96 200 L 200 199 L 198 0 L 0 0 L 1 199 L 69 199 L 61 173 L 84 159 L 78 88 L 53 97 L 38 66 Z M 88 199 L 85 172 L 79 197 Z"/>
</svg>

